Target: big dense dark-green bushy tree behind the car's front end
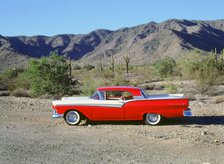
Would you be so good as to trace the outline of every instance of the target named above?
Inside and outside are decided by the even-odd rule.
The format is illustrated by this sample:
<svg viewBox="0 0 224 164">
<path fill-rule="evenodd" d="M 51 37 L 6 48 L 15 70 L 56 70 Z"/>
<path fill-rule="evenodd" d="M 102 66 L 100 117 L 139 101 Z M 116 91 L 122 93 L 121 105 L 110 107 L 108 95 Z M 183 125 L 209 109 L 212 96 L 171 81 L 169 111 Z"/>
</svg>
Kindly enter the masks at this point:
<svg viewBox="0 0 224 164">
<path fill-rule="evenodd" d="M 42 94 L 65 95 L 72 90 L 69 65 L 57 52 L 49 57 L 31 60 L 28 68 L 31 91 L 34 96 Z"/>
</svg>

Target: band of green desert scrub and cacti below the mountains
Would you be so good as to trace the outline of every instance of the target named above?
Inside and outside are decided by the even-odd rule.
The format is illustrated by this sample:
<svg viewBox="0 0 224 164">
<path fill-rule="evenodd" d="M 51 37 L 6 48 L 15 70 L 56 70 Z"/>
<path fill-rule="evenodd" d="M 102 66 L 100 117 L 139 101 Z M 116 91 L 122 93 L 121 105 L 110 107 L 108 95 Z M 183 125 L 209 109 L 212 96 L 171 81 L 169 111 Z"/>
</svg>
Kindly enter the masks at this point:
<svg viewBox="0 0 224 164">
<path fill-rule="evenodd" d="M 3 96 L 61 97 L 90 95 L 99 86 L 132 85 L 162 93 L 178 93 L 183 90 L 176 82 L 188 80 L 192 82 L 194 92 L 209 95 L 223 79 L 224 51 L 204 53 L 194 50 L 177 60 L 166 57 L 145 65 L 132 65 L 130 55 L 120 63 L 111 56 L 108 64 L 103 65 L 100 60 L 96 65 L 76 63 L 74 66 L 57 52 L 51 52 L 49 57 L 30 60 L 28 68 L 2 72 L 0 90 Z"/>
</svg>

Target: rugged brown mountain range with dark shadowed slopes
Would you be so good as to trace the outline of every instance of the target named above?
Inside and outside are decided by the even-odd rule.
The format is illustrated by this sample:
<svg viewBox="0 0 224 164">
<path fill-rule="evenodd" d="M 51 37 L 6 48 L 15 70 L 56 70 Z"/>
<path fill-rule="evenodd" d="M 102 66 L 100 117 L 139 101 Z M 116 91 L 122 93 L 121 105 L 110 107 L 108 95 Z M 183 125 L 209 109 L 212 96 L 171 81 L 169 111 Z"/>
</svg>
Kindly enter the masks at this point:
<svg viewBox="0 0 224 164">
<path fill-rule="evenodd" d="M 113 55 L 121 62 L 130 55 L 132 64 L 145 64 L 166 56 L 178 58 L 192 49 L 220 52 L 224 48 L 224 20 L 170 19 L 116 31 L 95 30 L 88 34 L 56 36 L 0 35 L 0 69 L 27 63 L 57 50 L 79 63 L 108 62 Z"/>
</svg>

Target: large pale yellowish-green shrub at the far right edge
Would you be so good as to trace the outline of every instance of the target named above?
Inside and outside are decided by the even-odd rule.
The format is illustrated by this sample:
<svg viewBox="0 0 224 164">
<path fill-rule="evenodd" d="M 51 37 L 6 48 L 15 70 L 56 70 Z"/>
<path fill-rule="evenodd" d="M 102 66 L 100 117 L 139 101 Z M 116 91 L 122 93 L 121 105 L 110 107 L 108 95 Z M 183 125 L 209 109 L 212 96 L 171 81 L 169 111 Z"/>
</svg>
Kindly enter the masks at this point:
<svg viewBox="0 0 224 164">
<path fill-rule="evenodd" d="M 192 53 L 178 62 L 181 74 L 186 79 L 195 80 L 195 89 L 202 94 L 209 94 L 213 86 L 220 83 L 223 59 L 216 53 Z"/>
</svg>

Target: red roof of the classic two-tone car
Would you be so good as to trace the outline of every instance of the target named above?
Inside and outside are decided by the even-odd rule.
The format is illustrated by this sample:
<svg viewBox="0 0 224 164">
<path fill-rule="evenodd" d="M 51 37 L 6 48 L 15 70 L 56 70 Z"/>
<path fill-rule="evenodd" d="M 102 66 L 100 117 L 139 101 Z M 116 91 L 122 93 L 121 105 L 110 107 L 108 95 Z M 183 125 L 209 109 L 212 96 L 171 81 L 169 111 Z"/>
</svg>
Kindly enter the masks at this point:
<svg viewBox="0 0 224 164">
<path fill-rule="evenodd" d="M 141 88 L 133 87 L 133 86 L 107 86 L 107 87 L 99 87 L 97 88 L 98 91 L 128 91 L 133 96 L 141 96 Z"/>
</svg>

